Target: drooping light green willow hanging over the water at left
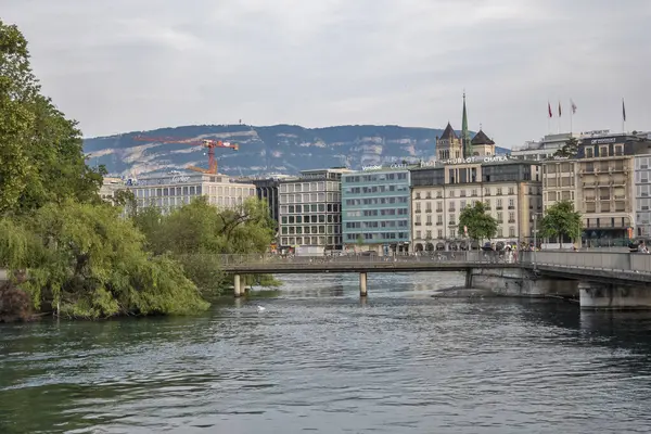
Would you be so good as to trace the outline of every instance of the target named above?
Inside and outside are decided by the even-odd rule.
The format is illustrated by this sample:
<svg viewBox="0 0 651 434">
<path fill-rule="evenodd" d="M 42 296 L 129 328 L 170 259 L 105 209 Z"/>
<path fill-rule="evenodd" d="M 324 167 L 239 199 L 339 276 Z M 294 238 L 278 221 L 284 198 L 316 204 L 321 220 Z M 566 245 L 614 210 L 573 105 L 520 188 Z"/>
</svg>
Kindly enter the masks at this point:
<svg viewBox="0 0 651 434">
<path fill-rule="evenodd" d="M 110 205 L 66 201 L 0 220 L 0 266 L 25 270 L 36 308 L 67 318 L 190 314 L 207 304 L 182 267 L 150 257 L 143 235 Z"/>
</svg>

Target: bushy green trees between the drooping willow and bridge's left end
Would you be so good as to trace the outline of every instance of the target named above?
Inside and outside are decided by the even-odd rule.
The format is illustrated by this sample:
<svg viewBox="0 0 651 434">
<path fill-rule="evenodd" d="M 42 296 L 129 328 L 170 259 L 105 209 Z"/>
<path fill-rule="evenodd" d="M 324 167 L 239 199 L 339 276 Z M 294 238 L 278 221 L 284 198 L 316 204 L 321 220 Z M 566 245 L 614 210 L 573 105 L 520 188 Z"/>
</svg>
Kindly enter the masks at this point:
<svg viewBox="0 0 651 434">
<path fill-rule="evenodd" d="M 148 248 L 176 258 L 204 296 L 217 295 L 230 284 L 217 255 L 265 253 L 276 227 L 267 204 L 253 197 L 239 207 L 220 209 L 201 196 L 168 215 L 145 207 L 133 221 L 145 234 Z"/>
</svg>

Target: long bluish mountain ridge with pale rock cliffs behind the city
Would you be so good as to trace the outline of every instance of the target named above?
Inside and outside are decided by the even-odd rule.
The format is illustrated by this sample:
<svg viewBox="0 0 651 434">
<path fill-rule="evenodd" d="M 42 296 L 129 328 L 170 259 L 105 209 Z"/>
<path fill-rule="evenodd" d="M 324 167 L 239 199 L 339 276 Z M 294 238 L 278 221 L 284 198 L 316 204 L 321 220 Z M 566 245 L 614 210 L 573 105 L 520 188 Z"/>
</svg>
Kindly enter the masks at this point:
<svg viewBox="0 0 651 434">
<path fill-rule="evenodd" d="M 216 149 L 219 173 L 227 175 L 296 174 L 299 170 L 387 164 L 403 159 L 432 159 L 442 129 L 399 126 L 347 125 L 304 128 L 296 125 L 196 125 L 133 131 L 85 139 L 89 164 L 105 165 L 113 175 L 142 176 L 182 169 L 207 168 L 205 149 L 179 143 L 137 141 L 145 137 L 219 139 L 240 144 L 239 151 Z M 508 150 L 498 149 L 498 153 Z"/>
</svg>

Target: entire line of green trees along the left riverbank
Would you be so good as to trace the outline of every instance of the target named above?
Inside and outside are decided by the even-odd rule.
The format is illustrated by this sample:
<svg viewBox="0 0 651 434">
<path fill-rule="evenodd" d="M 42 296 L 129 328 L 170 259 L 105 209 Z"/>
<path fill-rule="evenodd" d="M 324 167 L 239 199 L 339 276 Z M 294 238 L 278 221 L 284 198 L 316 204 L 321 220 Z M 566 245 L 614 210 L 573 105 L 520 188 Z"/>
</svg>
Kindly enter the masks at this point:
<svg viewBox="0 0 651 434">
<path fill-rule="evenodd" d="M 129 193 L 102 201 L 103 175 L 87 165 L 77 123 L 42 94 L 25 37 L 0 21 L 0 321 L 202 311 L 225 286 L 215 255 L 265 252 L 273 239 L 257 199 L 125 218 Z"/>
</svg>

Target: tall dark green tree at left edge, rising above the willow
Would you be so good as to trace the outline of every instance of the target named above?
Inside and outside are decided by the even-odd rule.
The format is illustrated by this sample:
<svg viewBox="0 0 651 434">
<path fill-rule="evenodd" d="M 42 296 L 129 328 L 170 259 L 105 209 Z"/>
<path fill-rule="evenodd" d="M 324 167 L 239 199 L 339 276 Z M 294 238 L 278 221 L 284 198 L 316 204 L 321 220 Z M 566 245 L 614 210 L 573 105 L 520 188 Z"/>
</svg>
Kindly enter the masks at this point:
<svg viewBox="0 0 651 434">
<path fill-rule="evenodd" d="M 39 91 L 27 41 L 0 21 L 0 213 L 98 200 L 102 177 L 85 164 L 76 123 Z"/>
</svg>

